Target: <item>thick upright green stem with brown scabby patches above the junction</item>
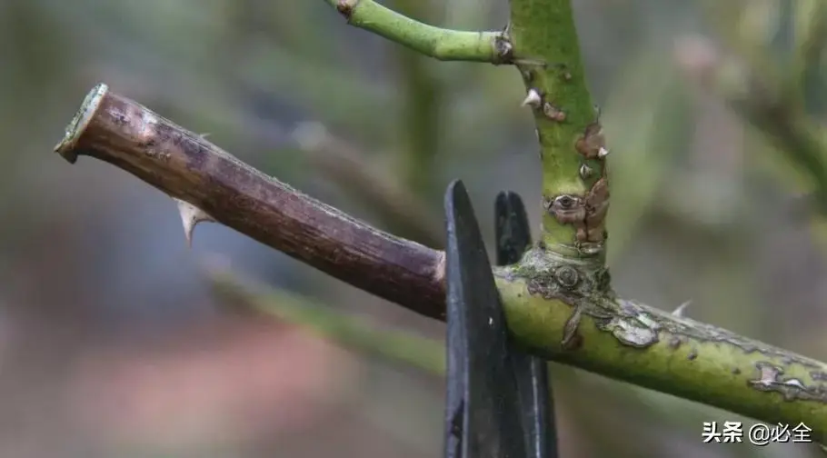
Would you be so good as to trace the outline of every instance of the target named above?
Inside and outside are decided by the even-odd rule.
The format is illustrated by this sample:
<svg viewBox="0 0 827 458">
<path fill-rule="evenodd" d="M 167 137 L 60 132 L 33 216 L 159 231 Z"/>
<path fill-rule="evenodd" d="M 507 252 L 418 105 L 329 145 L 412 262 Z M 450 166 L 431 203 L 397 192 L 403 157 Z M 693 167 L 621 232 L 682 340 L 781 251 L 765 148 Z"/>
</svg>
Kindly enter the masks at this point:
<svg viewBox="0 0 827 458">
<path fill-rule="evenodd" d="M 603 134 L 595 124 L 571 1 L 512 0 L 508 35 L 526 91 L 539 95 L 528 105 L 543 161 L 542 243 L 557 254 L 603 260 L 608 194 L 598 188 L 606 181 L 595 187 L 606 177 Z"/>
</svg>

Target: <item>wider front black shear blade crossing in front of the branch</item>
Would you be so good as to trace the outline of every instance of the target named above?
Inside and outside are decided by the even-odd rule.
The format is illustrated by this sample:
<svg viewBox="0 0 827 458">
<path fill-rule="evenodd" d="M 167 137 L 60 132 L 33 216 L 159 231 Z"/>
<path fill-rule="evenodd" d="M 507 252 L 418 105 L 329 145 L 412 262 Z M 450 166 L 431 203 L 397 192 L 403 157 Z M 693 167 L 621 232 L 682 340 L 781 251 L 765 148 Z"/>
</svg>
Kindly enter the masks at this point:
<svg viewBox="0 0 827 458">
<path fill-rule="evenodd" d="M 445 194 L 446 458 L 526 456 L 503 305 L 462 182 Z"/>
</svg>

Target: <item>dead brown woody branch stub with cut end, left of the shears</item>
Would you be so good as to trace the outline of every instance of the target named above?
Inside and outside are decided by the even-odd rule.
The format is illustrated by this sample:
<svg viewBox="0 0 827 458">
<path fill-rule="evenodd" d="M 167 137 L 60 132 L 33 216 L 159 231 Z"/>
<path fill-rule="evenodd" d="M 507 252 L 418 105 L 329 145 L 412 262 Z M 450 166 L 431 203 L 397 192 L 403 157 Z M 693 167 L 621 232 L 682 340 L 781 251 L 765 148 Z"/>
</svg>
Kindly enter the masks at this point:
<svg viewBox="0 0 827 458">
<path fill-rule="evenodd" d="M 339 280 L 444 319 L 444 253 L 386 234 L 97 85 L 55 146 L 134 174 L 214 221 Z"/>
</svg>

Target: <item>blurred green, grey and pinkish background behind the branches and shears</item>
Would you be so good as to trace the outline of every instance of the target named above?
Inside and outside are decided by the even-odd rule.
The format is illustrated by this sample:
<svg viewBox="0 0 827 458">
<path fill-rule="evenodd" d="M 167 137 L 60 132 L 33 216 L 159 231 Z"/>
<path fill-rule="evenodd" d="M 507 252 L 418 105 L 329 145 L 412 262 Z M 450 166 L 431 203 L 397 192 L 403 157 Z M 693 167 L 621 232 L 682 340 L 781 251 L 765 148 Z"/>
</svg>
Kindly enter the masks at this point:
<svg viewBox="0 0 827 458">
<path fill-rule="evenodd" d="M 507 17 L 504 0 L 385 3 L 454 28 Z M 796 122 L 824 138 L 821 1 L 573 3 L 613 152 L 616 289 L 827 359 L 827 245 L 802 197 L 827 184 L 731 109 L 732 85 L 699 78 L 718 50 L 792 81 Z M 215 224 L 188 249 L 164 194 L 66 164 L 52 148 L 101 81 L 424 244 L 443 244 L 453 178 L 489 244 L 498 191 L 539 203 L 513 68 L 413 55 L 320 1 L 0 0 L 0 456 L 441 456 L 443 324 Z M 216 265 L 271 291 L 228 293 Z M 568 367 L 553 384 L 564 458 L 818 453 L 704 444 L 702 422 L 752 423 Z"/>
</svg>

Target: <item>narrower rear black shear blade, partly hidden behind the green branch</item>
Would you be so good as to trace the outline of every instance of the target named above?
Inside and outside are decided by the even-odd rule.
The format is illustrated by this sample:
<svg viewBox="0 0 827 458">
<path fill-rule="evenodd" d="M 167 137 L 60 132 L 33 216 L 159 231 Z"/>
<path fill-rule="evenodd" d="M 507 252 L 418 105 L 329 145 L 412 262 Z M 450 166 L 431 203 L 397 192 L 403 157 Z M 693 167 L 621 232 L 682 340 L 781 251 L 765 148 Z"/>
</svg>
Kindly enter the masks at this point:
<svg viewBox="0 0 827 458">
<path fill-rule="evenodd" d="M 497 194 L 494 216 L 497 264 L 515 264 L 532 243 L 531 227 L 520 195 L 509 191 Z M 520 396 L 526 456 L 557 458 L 557 431 L 548 363 L 515 349 L 512 349 L 511 362 Z"/>
</svg>

